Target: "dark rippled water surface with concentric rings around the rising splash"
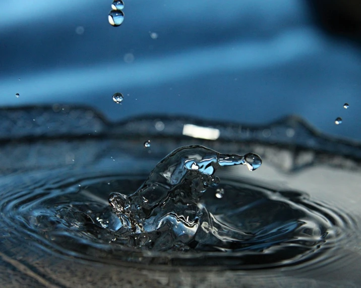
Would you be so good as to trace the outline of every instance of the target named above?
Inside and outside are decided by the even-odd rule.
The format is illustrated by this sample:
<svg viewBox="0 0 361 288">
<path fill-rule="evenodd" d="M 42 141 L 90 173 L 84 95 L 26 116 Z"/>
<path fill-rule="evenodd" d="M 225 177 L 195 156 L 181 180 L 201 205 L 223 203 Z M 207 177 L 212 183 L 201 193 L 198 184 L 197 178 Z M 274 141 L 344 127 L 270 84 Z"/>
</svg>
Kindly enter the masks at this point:
<svg viewBox="0 0 361 288">
<path fill-rule="evenodd" d="M 68 106 L 8 109 L 0 117 L 8 120 L 1 136 L 0 256 L 16 279 L 45 286 L 360 283 L 355 144 L 316 135 L 296 118 L 266 128 L 162 117 L 114 125 Z M 49 119 L 51 130 L 44 126 Z M 219 138 L 185 136 L 190 124 L 216 129 Z M 188 190 L 185 181 L 154 209 L 164 213 L 155 228 L 126 229 L 109 195 L 129 197 L 164 156 L 189 144 L 252 151 L 263 164 L 252 172 L 219 167 L 219 184 L 207 185 L 189 210 L 185 194 L 194 183 Z"/>
</svg>

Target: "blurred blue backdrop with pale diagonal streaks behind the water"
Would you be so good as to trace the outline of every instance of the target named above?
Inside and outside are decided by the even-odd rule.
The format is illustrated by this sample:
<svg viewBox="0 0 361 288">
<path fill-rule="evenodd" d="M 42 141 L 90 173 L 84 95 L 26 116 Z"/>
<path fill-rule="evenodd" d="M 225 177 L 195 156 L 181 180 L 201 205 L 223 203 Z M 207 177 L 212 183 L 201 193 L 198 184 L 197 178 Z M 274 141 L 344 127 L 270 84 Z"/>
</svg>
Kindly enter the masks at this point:
<svg viewBox="0 0 361 288">
<path fill-rule="evenodd" d="M 166 113 L 267 124 L 297 114 L 361 140 L 360 47 L 324 33 L 303 0 L 124 2 L 114 28 L 111 0 L 2 1 L 0 106 L 86 104 L 112 121 Z"/>
</svg>

